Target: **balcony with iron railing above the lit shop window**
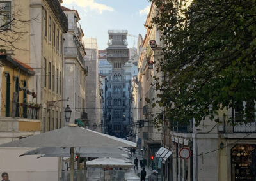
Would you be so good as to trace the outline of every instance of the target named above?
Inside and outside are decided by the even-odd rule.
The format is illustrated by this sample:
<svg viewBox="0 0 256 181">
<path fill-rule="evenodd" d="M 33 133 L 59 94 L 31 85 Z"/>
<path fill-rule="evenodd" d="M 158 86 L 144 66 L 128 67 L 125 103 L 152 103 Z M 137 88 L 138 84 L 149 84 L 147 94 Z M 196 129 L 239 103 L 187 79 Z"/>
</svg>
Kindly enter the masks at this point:
<svg viewBox="0 0 256 181">
<path fill-rule="evenodd" d="M 242 116 L 232 117 L 228 115 L 224 117 L 224 129 L 225 133 L 256 133 L 256 119 L 255 117 L 248 122 L 244 123 L 241 121 L 246 121 L 246 118 Z"/>
</svg>

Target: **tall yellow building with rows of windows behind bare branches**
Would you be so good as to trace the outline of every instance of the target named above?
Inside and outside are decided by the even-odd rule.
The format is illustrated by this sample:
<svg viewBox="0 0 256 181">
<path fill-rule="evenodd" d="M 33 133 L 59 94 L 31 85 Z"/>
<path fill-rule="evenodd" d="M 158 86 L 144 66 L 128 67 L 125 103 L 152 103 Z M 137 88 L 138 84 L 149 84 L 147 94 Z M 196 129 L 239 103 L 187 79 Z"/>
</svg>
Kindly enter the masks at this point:
<svg viewBox="0 0 256 181">
<path fill-rule="evenodd" d="M 19 19 L 9 25 L 4 36 L 4 40 L 10 40 L 11 36 L 17 39 L 11 45 L 0 44 L 6 52 L 13 53 L 13 59 L 31 65 L 35 71 L 26 83 L 36 97 L 28 97 L 27 102 L 42 105 L 38 110 L 41 131 L 63 126 L 63 34 L 67 32 L 67 17 L 60 3 L 59 0 L 0 1 L 4 12 L 10 15 L 9 21 Z M 0 24 L 8 24 L 8 20 L 1 20 Z"/>
</svg>

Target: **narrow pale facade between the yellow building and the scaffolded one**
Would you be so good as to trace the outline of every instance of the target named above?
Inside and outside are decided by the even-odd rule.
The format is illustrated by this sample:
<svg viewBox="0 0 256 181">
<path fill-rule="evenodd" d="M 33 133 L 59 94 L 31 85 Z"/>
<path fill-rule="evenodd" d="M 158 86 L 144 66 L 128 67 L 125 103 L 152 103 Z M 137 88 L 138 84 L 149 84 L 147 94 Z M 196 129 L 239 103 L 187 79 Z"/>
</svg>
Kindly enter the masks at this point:
<svg viewBox="0 0 256 181">
<path fill-rule="evenodd" d="M 79 27 L 79 13 L 62 7 L 68 18 L 68 31 L 65 34 L 64 42 L 64 98 L 69 98 L 68 105 L 72 109 L 70 124 L 85 126 L 87 119 L 86 112 L 86 76 L 88 66 L 84 58 L 86 55 L 82 38 L 83 30 Z M 63 101 L 63 107 L 67 101 Z M 68 123 L 67 123 L 68 124 Z"/>
</svg>

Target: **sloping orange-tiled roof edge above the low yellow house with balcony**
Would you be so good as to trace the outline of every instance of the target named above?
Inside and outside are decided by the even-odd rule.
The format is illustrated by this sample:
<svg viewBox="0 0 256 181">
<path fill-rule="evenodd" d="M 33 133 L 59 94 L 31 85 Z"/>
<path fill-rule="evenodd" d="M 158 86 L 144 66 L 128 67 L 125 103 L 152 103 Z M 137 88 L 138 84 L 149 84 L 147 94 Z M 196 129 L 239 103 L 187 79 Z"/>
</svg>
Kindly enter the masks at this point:
<svg viewBox="0 0 256 181">
<path fill-rule="evenodd" d="M 22 71 L 25 71 L 29 75 L 35 75 L 34 69 L 31 68 L 31 66 L 29 66 L 28 64 L 24 64 L 23 62 L 20 62 L 18 59 L 12 58 L 8 55 L 0 54 L 0 61 L 3 59 L 9 61 L 11 64 L 13 64 L 13 66 L 19 67 Z"/>
</svg>

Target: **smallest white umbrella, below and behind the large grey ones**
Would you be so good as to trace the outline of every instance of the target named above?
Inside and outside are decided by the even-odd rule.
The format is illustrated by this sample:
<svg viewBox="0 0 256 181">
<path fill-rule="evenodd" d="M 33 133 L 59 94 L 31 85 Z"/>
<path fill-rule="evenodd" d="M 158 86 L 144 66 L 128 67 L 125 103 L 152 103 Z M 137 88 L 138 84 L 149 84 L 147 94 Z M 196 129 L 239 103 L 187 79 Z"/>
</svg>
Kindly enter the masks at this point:
<svg viewBox="0 0 256 181">
<path fill-rule="evenodd" d="M 116 159 L 111 157 L 104 157 L 99 159 L 94 159 L 92 161 L 87 161 L 87 167 L 100 167 L 100 168 L 113 168 L 113 167 L 122 167 L 122 168 L 132 168 L 133 164 L 128 160 Z"/>
</svg>

